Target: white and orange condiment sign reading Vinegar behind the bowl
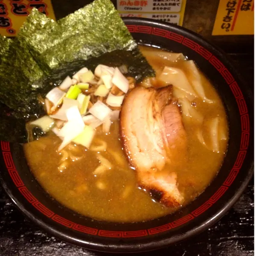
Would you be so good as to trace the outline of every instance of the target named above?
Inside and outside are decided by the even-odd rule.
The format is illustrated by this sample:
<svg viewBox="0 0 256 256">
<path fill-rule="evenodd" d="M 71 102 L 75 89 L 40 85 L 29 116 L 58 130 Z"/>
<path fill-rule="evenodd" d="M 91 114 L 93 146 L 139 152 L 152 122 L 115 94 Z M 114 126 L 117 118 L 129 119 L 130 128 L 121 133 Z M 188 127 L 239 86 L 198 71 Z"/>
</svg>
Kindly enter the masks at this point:
<svg viewBox="0 0 256 256">
<path fill-rule="evenodd" d="M 186 0 L 117 0 L 121 17 L 144 17 L 182 25 Z"/>
</svg>

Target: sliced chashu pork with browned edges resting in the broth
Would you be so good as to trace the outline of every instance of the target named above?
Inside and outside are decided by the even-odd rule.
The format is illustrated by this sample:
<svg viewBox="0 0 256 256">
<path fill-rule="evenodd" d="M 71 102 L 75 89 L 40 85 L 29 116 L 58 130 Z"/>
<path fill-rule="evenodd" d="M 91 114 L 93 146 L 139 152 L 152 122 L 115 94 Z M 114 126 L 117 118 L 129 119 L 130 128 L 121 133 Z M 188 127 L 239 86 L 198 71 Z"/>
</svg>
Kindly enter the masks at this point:
<svg viewBox="0 0 256 256">
<path fill-rule="evenodd" d="M 166 206 L 181 205 L 176 173 L 162 171 L 166 161 L 174 166 L 177 154 L 186 152 L 186 132 L 180 110 L 172 103 L 172 87 L 131 90 L 122 105 L 120 124 L 124 150 L 137 171 L 138 183 L 160 192 L 160 202 Z"/>
</svg>

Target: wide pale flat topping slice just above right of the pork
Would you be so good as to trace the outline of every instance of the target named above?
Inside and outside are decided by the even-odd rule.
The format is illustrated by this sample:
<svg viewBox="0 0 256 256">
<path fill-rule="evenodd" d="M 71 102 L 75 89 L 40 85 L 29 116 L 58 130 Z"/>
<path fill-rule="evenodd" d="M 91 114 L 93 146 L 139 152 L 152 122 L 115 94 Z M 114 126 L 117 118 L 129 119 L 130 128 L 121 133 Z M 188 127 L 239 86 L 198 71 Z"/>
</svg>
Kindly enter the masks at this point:
<svg viewBox="0 0 256 256">
<path fill-rule="evenodd" d="M 189 84 L 185 73 L 174 67 L 164 67 L 162 73 L 158 77 L 160 81 L 166 83 L 166 85 L 172 84 L 174 87 L 179 88 L 180 90 L 185 91 L 186 93 L 192 94 L 197 97 L 195 90 Z"/>
</svg>

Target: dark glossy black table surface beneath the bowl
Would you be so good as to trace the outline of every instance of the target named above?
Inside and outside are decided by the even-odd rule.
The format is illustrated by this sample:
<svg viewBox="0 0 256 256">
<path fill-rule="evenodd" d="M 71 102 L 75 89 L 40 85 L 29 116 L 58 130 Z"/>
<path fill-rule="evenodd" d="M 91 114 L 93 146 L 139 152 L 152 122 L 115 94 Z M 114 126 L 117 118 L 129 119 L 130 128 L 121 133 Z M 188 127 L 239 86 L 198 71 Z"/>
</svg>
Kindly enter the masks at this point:
<svg viewBox="0 0 256 256">
<path fill-rule="evenodd" d="M 229 54 L 238 73 L 253 90 L 253 53 Z M 254 255 L 254 182 L 232 209 L 208 230 L 175 244 L 140 255 L 252 256 Z M 103 256 L 61 241 L 24 217 L 0 186 L 0 256 Z M 135 254 L 135 253 L 134 253 Z"/>
</svg>

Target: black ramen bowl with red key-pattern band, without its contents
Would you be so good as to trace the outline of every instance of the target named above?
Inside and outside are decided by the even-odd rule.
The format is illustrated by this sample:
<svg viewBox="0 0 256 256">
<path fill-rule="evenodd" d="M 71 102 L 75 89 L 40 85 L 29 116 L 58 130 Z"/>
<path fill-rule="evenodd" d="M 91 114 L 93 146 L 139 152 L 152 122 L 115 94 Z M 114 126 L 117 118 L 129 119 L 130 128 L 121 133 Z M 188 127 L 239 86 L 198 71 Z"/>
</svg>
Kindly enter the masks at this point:
<svg viewBox="0 0 256 256">
<path fill-rule="evenodd" d="M 124 21 L 138 42 L 182 52 L 194 60 L 224 102 L 229 147 L 220 172 L 205 192 L 179 212 L 159 219 L 129 224 L 96 221 L 50 198 L 30 173 L 21 145 L 2 141 L 0 152 L 3 186 L 26 216 L 60 239 L 109 252 L 153 250 L 207 229 L 230 209 L 253 174 L 252 94 L 225 55 L 179 26 L 148 19 Z"/>
</svg>

